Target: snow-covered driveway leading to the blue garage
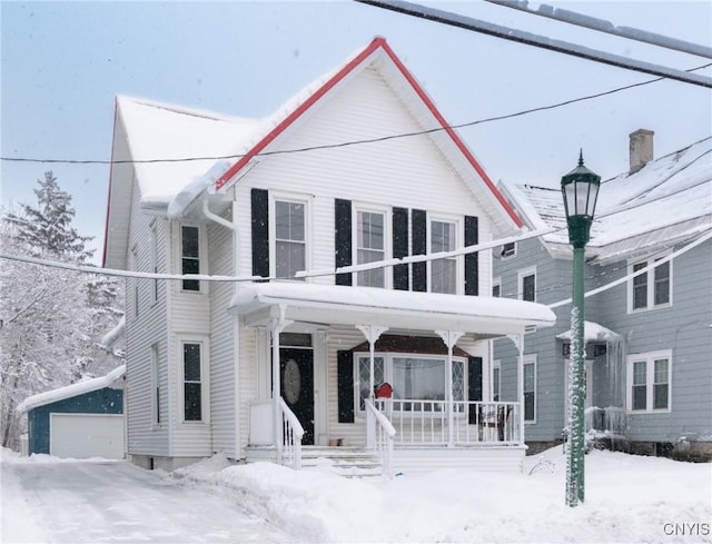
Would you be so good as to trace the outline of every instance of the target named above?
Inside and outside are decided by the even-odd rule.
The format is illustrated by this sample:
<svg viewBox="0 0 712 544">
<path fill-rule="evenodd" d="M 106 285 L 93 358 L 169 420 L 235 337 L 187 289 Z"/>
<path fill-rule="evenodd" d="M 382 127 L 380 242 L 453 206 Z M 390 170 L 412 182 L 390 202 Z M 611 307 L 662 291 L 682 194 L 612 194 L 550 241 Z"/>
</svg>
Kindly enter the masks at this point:
<svg viewBox="0 0 712 544">
<path fill-rule="evenodd" d="M 235 498 L 120 462 L 7 463 L 3 543 L 289 542 Z"/>
</svg>

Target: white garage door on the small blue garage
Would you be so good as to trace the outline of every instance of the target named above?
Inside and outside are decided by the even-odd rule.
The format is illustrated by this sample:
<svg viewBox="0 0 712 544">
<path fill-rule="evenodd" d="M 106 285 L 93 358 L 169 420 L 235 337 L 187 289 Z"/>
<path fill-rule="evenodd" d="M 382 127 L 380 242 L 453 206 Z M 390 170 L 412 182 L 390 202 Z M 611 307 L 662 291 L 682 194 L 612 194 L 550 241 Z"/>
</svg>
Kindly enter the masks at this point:
<svg viewBox="0 0 712 544">
<path fill-rule="evenodd" d="M 49 452 L 57 457 L 123 458 L 121 414 L 50 414 Z"/>
</svg>

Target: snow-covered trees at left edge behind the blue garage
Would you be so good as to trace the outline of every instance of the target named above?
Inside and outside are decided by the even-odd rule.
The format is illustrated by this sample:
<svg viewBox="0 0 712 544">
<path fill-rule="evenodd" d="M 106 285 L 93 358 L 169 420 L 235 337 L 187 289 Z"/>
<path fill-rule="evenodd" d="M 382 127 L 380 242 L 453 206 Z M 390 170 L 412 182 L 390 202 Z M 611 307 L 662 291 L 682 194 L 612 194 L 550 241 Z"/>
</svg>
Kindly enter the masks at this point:
<svg viewBox="0 0 712 544">
<path fill-rule="evenodd" d="M 71 226 L 71 197 L 47 172 L 38 207 L 2 214 L 0 250 L 81 264 L 89 237 Z M 2 259 L 0 266 L 0 439 L 17 447 L 16 407 L 28 396 L 106 374 L 121 363 L 100 340 L 122 316 L 113 278 Z"/>
</svg>

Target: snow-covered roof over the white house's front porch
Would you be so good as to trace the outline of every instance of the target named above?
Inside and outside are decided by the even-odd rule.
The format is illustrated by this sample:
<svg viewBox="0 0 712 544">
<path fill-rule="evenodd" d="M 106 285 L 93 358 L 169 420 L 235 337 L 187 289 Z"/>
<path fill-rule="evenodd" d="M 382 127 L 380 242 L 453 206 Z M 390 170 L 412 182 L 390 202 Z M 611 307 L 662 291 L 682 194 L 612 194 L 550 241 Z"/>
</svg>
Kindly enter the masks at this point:
<svg viewBox="0 0 712 544">
<path fill-rule="evenodd" d="M 392 329 L 459 330 L 478 338 L 523 334 L 556 319 L 544 305 L 510 298 L 457 296 L 301 283 L 240 285 L 230 311 L 247 325 L 284 317 L 324 325 L 382 325 Z"/>
</svg>

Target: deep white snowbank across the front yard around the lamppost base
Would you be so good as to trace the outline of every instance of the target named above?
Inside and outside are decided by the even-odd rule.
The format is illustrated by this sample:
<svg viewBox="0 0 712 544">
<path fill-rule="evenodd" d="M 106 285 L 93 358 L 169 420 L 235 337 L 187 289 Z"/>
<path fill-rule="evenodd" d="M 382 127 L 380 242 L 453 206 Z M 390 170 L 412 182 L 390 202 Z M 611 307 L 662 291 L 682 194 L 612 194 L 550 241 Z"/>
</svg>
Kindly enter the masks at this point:
<svg viewBox="0 0 712 544">
<path fill-rule="evenodd" d="M 576 508 L 564 505 L 561 448 L 528 457 L 525 468 L 345 479 L 327 464 L 294 472 L 266 463 L 230 466 L 216 456 L 159 476 L 198 496 L 207 492 L 228 506 L 239 504 L 294 542 L 712 542 L 711 464 L 594 451 L 586 456 L 586 501 Z M 37 497 L 8 498 L 6 491 L 3 485 L 3 510 L 6 500 L 22 508 L 59 507 L 38 505 Z M 136 493 L 140 501 L 141 489 Z M 137 508 L 136 515 L 148 514 Z M 214 521 L 224 515 L 216 512 Z M 3 526 L 3 542 L 11 536 Z"/>
</svg>

